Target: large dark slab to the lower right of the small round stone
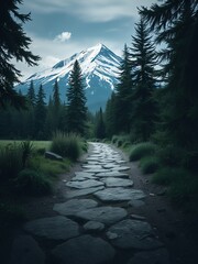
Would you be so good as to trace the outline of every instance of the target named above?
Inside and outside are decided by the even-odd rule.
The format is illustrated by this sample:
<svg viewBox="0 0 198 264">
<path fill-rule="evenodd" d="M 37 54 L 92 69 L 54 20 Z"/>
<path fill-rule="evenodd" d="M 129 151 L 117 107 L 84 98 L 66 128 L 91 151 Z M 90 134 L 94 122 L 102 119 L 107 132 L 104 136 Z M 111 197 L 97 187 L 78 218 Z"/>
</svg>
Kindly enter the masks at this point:
<svg viewBox="0 0 198 264">
<path fill-rule="evenodd" d="M 112 226 L 109 232 L 118 235 L 111 243 L 120 249 L 154 250 L 163 246 L 153 238 L 151 226 L 144 221 L 123 220 Z"/>
</svg>

